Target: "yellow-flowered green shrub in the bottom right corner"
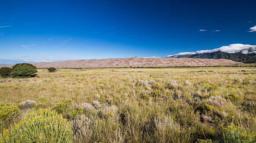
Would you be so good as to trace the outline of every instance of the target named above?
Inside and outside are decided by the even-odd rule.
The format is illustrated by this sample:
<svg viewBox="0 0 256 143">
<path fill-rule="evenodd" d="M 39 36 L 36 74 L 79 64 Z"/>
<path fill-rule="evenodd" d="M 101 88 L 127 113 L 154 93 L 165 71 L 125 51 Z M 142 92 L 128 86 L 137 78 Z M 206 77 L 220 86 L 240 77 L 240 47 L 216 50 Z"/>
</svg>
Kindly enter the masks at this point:
<svg viewBox="0 0 256 143">
<path fill-rule="evenodd" d="M 225 143 L 255 143 L 256 141 L 254 132 L 245 131 L 233 123 L 223 128 L 223 135 Z"/>
</svg>

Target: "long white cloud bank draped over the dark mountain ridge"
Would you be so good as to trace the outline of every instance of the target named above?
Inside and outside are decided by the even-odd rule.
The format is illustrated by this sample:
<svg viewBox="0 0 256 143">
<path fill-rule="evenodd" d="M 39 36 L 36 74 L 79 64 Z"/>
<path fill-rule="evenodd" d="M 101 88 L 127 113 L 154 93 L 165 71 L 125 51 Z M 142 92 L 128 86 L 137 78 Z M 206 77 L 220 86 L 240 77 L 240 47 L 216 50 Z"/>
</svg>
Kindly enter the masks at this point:
<svg viewBox="0 0 256 143">
<path fill-rule="evenodd" d="M 212 53 L 212 52 L 217 52 L 217 51 L 226 52 L 226 53 L 236 53 L 236 52 L 239 52 L 241 50 L 248 49 L 250 47 L 255 49 L 255 51 L 256 51 L 256 45 L 230 44 L 228 46 L 222 46 L 222 47 L 216 48 L 216 49 L 200 50 L 200 51 L 196 51 L 196 52 L 181 52 L 181 53 L 174 54 L 174 55 L 168 55 L 167 57 L 186 55 L 186 54 Z M 247 54 L 246 52 L 248 52 L 248 50 L 245 50 L 243 53 Z"/>
</svg>

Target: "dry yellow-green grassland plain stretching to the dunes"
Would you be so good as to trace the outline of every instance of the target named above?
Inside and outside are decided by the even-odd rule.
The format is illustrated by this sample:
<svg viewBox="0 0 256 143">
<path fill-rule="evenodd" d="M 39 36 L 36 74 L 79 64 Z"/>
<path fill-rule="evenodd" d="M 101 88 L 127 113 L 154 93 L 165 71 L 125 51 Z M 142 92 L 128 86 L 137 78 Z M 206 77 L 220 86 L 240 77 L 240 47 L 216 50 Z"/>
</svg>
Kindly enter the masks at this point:
<svg viewBox="0 0 256 143">
<path fill-rule="evenodd" d="M 75 143 L 223 142 L 233 123 L 256 131 L 255 67 L 38 69 L 38 77 L 0 79 L 0 101 L 20 104 L 10 128 L 31 108 L 56 109 Z M 63 111 L 56 104 L 70 100 Z M 27 106 L 27 104 L 25 105 Z"/>
</svg>

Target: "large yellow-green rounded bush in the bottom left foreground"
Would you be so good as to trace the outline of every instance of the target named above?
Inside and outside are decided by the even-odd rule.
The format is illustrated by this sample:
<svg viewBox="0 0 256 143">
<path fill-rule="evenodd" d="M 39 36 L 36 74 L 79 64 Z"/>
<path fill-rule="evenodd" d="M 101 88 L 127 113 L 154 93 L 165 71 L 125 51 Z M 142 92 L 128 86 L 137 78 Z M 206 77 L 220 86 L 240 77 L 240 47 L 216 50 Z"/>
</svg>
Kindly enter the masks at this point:
<svg viewBox="0 0 256 143">
<path fill-rule="evenodd" d="M 0 134 L 0 143 L 72 143 L 73 140 L 70 123 L 50 109 L 32 110 Z"/>
</svg>

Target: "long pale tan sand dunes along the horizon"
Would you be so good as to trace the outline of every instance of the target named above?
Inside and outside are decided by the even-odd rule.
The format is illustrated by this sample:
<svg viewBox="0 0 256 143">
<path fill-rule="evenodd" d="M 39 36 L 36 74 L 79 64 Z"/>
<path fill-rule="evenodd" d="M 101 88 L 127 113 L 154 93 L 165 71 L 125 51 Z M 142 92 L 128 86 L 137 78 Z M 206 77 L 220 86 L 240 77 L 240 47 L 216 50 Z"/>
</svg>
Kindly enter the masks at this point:
<svg viewBox="0 0 256 143">
<path fill-rule="evenodd" d="M 38 68 L 44 67 L 128 67 L 128 66 L 215 66 L 242 64 L 229 59 L 192 59 L 192 58 L 108 58 L 108 59 L 82 59 L 60 62 L 33 63 Z M 13 65 L 0 65 L 0 67 L 12 67 Z"/>
</svg>

